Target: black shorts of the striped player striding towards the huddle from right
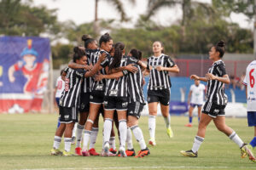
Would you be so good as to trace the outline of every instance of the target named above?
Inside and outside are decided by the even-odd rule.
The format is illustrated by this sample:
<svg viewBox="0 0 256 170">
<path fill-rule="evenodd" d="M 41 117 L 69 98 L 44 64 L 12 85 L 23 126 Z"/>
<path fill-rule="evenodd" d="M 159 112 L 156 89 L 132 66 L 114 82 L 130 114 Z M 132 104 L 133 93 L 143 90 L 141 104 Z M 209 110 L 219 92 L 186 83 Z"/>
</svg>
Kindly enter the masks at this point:
<svg viewBox="0 0 256 170">
<path fill-rule="evenodd" d="M 226 105 L 217 105 L 207 101 L 201 112 L 216 118 L 217 116 L 225 116 L 225 107 Z"/>
</svg>

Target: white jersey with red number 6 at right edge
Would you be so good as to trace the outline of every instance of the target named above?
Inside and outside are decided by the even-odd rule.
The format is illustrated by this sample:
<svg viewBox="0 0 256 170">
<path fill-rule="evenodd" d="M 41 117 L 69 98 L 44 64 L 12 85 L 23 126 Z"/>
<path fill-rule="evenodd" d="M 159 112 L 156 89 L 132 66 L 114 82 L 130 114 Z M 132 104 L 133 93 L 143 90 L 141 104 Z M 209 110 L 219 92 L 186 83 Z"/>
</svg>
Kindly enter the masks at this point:
<svg viewBox="0 0 256 170">
<path fill-rule="evenodd" d="M 247 111 L 256 111 L 256 60 L 247 65 L 243 84 L 247 86 Z"/>
</svg>

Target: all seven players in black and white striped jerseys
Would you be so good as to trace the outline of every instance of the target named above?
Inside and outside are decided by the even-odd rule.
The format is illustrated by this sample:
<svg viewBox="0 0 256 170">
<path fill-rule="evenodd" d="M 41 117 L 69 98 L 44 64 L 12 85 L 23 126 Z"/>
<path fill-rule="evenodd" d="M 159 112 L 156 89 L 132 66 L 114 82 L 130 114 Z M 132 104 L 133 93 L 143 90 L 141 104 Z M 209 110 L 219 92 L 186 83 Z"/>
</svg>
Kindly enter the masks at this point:
<svg viewBox="0 0 256 170">
<path fill-rule="evenodd" d="M 145 65 L 141 61 L 142 53 L 139 50 L 133 48 L 125 55 L 125 44 L 123 42 L 113 44 L 113 39 L 108 33 L 100 38 L 99 47 L 96 39 L 88 35 L 84 35 L 82 40 L 84 47 L 74 48 L 73 61 L 63 71 L 65 88 L 59 103 L 61 123 L 55 132 L 51 154 L 72 156 L 70 148 L 73 141 L 73 127 L 74 122 L 78 122 L 79 115 L 75 154 L 99 156 L 100 154 L 94 149 L 94 144 L 98 133 L 99 115 L 102 114 L 104 117 L 102 156 L 136 156 L 131 131 L 141 148 L 136 157 L 148 156 L 150 152 L 143 138 L 143 132 L 138 126 L 140 112 L 145 105 L 143 76 L 149 75 L 147 100 L 150 139 L 148 144 L 155 145 L 155 116 L 159 103 L 166 122 L 166 133 L 170 138 L 173 137 L 169 114 L 172 86 L 169 72 L 178 73 L 177 65 L 170 56 L 163 54 L 164 47 L 159 41 L 153 43 L 154 55 L 148 58 L 148 63 Z M 209 58 L 212 59 L 213 64 L 206 77 L 196 75 L 190 77 L 195 82 L 198 80 L 207 82 L 207 101 L 202 109 L 203 114 L 201 114 L 193 147 L 191 150 L 182 150 L 181 154 L 197 157 L 207 125 L 213 120 L 219 131 L 238 144 L 242 157 L 248 155 L 250 160 L 255 161 L 250 148 L 252 142 L 249 145 L 245 144 L 236 132 L 225 124 L 224 108 L 227 105 L 227 97 L 224 94 L 224 84 L 230 83 L 230 78 L 221 60 L 223 56 L 224 42 L 220 41 L 212 46 L 209 52 Z M 196 87 L 197 84 L 198 82 L 195 83 Z M 113 122 L 119 131 L 119 151 L 115 148 Z M 81 148 L 83 131 L 83 148 Z M 65 149 L 61 152 L 59 146 L 63 133 Z M 125 150 L 126 143 L 127 150 Z"/>
</svg>

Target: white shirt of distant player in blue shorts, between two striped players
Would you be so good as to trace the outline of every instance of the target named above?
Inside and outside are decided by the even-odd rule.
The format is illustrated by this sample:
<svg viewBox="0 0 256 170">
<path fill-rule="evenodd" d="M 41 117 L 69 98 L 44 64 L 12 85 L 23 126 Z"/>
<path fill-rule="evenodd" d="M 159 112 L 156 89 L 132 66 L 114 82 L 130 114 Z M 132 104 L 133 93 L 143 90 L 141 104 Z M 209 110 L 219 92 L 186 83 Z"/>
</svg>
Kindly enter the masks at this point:
<svg viewBox="0 0 256 170">
<path fill-rule="evenodd" d="M 190 86 L 190 91 L 192 92 L 190 103 L 195 105 L 202 105 L 204 102 L 205 90 L 206 90 L 205 85 L 201 83 L 198 86 L 195 86 L 195 84 L 192 84 Z"/>
</svg>

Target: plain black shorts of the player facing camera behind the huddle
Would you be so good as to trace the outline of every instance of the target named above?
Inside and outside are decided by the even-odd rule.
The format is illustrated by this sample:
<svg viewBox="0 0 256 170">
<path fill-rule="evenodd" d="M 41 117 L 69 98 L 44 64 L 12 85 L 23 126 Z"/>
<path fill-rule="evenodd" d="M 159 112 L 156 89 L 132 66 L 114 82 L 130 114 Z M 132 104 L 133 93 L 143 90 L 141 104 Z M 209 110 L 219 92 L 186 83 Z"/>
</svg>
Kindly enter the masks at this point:
<svg viewBox="0 0 256 170">
<path fill-rule="evenodd" d="M 169 105 L 170 89 L 148 90 L 148 103 L 160 102 L 161 105 Z"/>
</svg>

